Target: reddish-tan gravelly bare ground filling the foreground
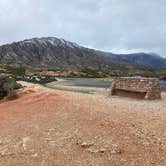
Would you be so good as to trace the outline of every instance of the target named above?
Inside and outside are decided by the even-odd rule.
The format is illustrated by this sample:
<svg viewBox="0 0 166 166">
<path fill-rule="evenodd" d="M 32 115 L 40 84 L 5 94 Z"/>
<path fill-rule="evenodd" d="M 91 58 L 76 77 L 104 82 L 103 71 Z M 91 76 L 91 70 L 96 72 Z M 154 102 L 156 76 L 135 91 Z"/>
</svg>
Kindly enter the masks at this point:
<svg viewBox="0 0 166 166">
<path fill-rule="evenodd" d="M 30 83 L 0 103 L 0 166 L 165 166 L 161 101 L 88 95 Z"/>
</svg>

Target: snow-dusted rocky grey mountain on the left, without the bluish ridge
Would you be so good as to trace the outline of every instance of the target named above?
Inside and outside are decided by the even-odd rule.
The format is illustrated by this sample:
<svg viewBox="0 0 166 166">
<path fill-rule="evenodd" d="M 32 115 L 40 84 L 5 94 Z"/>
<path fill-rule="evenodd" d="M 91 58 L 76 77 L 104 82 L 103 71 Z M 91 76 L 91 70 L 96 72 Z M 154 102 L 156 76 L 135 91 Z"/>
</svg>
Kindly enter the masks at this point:
<svg viewBox="0 0 166 166">
<path fill-rule="evenodd" d="M 55 70 L 107 71 L 123 65 L 94 50 L 57 38 L 33 38 L 0 47 L 0 64 Z M 123 67 L 124 68 L 124 67 Z"/>
</svg>

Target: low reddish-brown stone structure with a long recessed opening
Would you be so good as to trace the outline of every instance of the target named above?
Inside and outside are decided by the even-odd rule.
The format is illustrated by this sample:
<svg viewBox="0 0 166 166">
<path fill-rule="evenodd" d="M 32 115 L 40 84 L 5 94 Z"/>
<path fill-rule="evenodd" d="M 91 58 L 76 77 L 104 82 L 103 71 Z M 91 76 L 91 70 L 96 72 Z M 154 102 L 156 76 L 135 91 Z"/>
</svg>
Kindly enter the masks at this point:
<svg viewBox="0 0 166 166">
<path fill-rule="evenodd" d="M 161 99 L 160 82 L 156 78 L 117 77 L 112 81 L 111 95 L 141 99 Z"/>
</svg>

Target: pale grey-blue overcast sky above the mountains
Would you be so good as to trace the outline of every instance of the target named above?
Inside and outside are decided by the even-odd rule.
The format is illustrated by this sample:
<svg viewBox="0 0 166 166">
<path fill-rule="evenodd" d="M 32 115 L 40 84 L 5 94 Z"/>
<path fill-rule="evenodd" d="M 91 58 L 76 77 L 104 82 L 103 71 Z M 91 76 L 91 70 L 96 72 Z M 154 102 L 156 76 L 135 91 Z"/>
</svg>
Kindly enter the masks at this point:
<svg viewBox="0 0 166 166">
<path fill-rule="evenodd" d="M 166 57 L 166 0 L 0 0 L 0 44 L 47 36 Z"/>
</svg>

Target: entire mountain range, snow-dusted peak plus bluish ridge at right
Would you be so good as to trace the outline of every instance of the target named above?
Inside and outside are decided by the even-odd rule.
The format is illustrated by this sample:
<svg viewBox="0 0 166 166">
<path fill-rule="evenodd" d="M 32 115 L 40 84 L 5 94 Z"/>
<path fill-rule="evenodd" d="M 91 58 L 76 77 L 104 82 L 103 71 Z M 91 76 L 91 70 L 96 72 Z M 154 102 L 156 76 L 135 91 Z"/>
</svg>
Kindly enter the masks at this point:
<svg viewBox="0 0 166 166">
<path fill-rule="evenodd" d="M 55 37 L 33 38 L 0 46 L 0 64 L 54 70 L 128 70 L 166 67 L 166 59 L 154 54 L 118 55 L 85 48 Z"/>
</svg>

